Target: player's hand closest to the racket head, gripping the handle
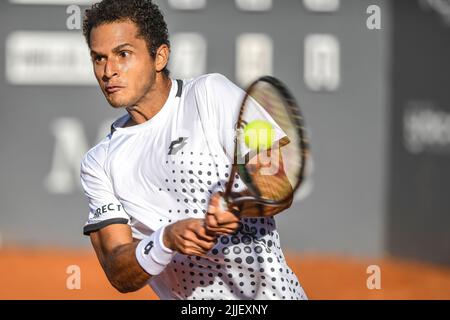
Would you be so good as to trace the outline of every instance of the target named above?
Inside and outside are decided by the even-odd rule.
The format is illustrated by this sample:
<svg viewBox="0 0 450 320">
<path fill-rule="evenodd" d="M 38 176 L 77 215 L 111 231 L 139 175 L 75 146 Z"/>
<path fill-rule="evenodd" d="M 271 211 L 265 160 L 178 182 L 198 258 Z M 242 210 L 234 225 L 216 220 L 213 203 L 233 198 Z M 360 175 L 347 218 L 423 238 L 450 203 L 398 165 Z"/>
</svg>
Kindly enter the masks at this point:
<svg viewBox="0 0 450 320">
<path fill-rule="evenodd" d="M 240 218 L 223 208 L 221 195 L 216 193 L 211 197 L 205 218 L 206 230 L 213 235 L 228 235 L 235 233 L 240 226 Z"/>
</svg>

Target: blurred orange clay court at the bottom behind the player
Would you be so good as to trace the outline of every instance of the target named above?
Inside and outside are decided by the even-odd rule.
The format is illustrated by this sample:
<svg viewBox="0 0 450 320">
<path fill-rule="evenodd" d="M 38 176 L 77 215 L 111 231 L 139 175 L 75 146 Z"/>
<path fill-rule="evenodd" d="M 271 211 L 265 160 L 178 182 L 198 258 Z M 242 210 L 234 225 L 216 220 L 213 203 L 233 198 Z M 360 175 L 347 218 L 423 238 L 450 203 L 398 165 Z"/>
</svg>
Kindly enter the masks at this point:
<svg viewBox="0 0 450 320">
<path fill-rule="evenodd" d="M 288 252 L 310 299 L 450 299 L 450 268 L 398 259 Z M 81 289 L 66 288 L 67 267 L 81 269 Z M 381 268 L 381 289 L 369 290 L 369 265 Z M 92 250 L 0 250 L 0 299 L 157 299 L 146 287 L 120 294 Z"/>
</svg>

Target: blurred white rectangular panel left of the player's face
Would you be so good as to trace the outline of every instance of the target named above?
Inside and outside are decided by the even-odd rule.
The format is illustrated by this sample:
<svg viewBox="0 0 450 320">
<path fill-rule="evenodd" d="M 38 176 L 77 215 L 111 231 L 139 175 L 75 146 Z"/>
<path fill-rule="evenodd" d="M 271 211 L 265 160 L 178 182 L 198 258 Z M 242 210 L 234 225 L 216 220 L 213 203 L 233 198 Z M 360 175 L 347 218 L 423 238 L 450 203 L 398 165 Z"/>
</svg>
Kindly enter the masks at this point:
<svg viewBox="0 0 450 320">
<path fill-rule="evenodd" d="M 6 79 L 16 85 L 97 84 L 77 32 L 13 32 L 6 40 Z"/>
</svg>

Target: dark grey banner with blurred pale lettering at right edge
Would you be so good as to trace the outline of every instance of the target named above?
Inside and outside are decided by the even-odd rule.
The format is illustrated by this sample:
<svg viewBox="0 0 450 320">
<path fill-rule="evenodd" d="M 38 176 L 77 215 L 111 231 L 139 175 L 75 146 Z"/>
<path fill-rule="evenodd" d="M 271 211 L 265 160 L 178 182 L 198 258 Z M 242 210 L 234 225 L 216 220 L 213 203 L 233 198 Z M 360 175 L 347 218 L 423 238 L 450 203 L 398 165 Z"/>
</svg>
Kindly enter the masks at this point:
<svg viewBox="0 0 450 320">
<path fill-rule="evenodd" d="M 393 1 L 386 244 L 393 256 L 450 265 L 450 7 L 437 2 Z"/>
</svg>

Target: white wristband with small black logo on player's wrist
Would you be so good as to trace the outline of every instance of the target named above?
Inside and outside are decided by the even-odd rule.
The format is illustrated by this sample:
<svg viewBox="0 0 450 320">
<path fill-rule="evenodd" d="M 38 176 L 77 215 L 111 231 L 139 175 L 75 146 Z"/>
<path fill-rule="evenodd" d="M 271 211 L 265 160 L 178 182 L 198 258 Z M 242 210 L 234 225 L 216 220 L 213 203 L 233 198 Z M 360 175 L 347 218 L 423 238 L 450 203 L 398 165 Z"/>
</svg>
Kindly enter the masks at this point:
<svg viewBox="0 0 450 320">
<path fill-rule="evenodd" d="M 160 274 L 172 261 L 175 252 L 164 245 L 164 228 L 159 228 L 144 238 L 136 247 L 136 258 L 142 269 L 150 275 Z"/>
</svg>

